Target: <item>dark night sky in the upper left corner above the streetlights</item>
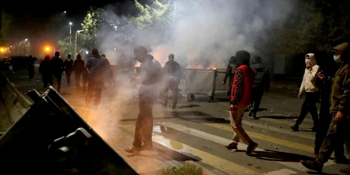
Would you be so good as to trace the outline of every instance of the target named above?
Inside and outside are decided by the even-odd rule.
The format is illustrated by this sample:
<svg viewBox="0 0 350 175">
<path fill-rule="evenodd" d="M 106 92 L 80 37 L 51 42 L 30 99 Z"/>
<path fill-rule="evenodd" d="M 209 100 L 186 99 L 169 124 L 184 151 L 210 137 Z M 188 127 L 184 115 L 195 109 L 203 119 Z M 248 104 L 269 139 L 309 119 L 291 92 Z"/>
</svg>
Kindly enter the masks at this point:
<svg viewBox="0 0 350 175">
<path fill-rule="evenodd" d="M 90 6 L 104 7 L 123 1 L 128 0 L 1 1 L 3 10 L 12 17 L 7 35 L 8 43 L 11 45 L 28 38 L 31 41 L 32 51 L 38 50 L 42 45 L 55 45 L 62 35 L 69 34 L 69 22 L 73 22 L 72 34 L 76 29 L 81 29 L 80 22 L 83 21 Z"/>
</svg>

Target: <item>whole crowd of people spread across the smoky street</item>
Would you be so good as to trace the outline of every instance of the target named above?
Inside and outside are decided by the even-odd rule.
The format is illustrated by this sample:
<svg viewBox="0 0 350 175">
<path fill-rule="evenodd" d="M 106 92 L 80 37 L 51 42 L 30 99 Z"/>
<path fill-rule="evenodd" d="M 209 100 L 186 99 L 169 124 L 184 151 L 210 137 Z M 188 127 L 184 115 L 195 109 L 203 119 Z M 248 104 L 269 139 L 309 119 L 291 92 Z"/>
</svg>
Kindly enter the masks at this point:
<svg viewBox="0 0 350 175">
<path fill-rule="evenodd" d="M 152 130 L 153 130 L 153 106 L 159 97 L 163 106 L 167 106 L 168 91 L 172 90 L 172 109 L 176 109 L 176 97 L 181 80 L 181 67 L 174 61 L 174 55 L 169 55 L 169 62 L 164 69 L 160 63 L 148 54 L 142 45 L 134 48 L 134 59 L 141 62 L 139 67 L 139 116 L 134 133 L 134 142 L 125 151 L 139 154 L 140 151 L 152 150 Z M 335 162 L 350 162 L 344 156 L 344 144 L 350 144 L 350 47 L 349 43 L 342 43 L 331 50 L 334 61 L 339 64 L 337 72 L 325 73 L 322 67 L 318 66 L 316 56 L 313 53 L 305 55 L 306 68 L 300 86 L 298 98 L 302 98 L 305 93 L 304 104 L 300 112 L 300 117 L 291 129 L 298 131 L 299 125 L 304 120 L 308 112 L 314 120 L 314 127 L 311 131 L 316 132 L 314 154 L 316 160 L 302 160 L 304 167 L 322 172 L 323 164 L 328 161 L 330 155 L 335 151 Z M 252 62 L 251 62 L 252 61 Z M 326 69 L 326 68 L 324 68 Z M 70 76 L 74 71 L 77 90 L 86 88 L 87 93 L 85 105 L 88 107 L 92 97 L 94 106 L 98 106 L 101 100 L 102 87 L 104 83 L 114 82 L 111 66 L 105 55 L 99 55 L 97 49 L 92 50 L 92 57 L 85 62 L 80 55 L 76 55 L 76 60 L 71 60 L 71 55 L 63 60 L 59 57 L 59 52 L 55 52 L 54 57 L 46 55 L 41 62 L 39 72 L 43 78 L 44 87 L 52 85 L 52 77 L 57 79 L 57 91 L 60 90 L 62 73 L 66 72 L 67 83 L 70 85 Z M 83 87 L 80 85 L 80 77 L 83 76 Z M 229 60 L 227 72 L 223 79 L 223 84 L 229 78 L 230 96 L 230 124 L 234 137 L 232 143 L 225 148 L 232 152 L 238 150 L 239 141 L 248 145 L 246 155 L 251 155 L 258 147 L 242 127 L 242 119 L 245 111 L 249 111 L 248 116 L 257 118 L 256 114 L 262 99 L 263 93 L 269 91 L 269 71 L 262 64 L 261 57 L 254 57 L 246 50 L 239 50 L 235 56 Z M 159 84 L 165 82 L 165 86 L 159 90 Z M 316 102 L 321 94 L 321 109 L 317 112 Z M 319 117 L 319 118 L 318 118 Z M 342 173 L 350 174 L 350 169 L 341 170 Z"/>
</svg>

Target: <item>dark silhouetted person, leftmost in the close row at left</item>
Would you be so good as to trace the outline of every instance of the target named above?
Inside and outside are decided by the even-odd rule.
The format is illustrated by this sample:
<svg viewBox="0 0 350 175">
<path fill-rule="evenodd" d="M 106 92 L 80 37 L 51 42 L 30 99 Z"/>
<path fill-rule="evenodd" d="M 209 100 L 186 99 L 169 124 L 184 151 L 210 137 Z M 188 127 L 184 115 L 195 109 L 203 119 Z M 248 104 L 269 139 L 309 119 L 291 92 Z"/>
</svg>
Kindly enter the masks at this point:
<svg viewBox="0 0 350 175">
<path fill-rule="evenodd" d="M 39 73 L 43 78 L 43 87 L 46 88 L 48 85 L 52 85 L 52 66 L 50 64 L 50 55 L 45 55 L 45 58 L 41 60 L 39 66 Z"/>
</svg>

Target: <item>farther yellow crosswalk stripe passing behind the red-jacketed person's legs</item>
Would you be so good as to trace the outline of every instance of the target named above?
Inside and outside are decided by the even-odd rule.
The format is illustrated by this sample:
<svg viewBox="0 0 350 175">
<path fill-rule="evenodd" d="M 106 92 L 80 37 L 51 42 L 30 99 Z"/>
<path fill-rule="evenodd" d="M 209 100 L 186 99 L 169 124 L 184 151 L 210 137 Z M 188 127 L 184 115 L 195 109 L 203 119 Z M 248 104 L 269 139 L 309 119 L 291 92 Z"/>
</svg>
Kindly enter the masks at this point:
<svg viewBox="0 0 350 175">
<path fill-rule="evenodd" d="M 220 123 L 202 123 L 202 124 L 208 125 L 208 126 L 211 126 L 211 127 L 216 127 L 218 129 L 221 129 L 221 130 L 227 130 L 227 131 L 233 132 L 232 127 L 230 127 L 229 125 L 224 125 L 224 124 L 220 124 Z M 300 149 L 302 151 L 307 151 L 309 153 L 314 153 L 314 147 L 312 147 L 312 146 L 298 144 L 298 143 L 295 143 L 293 141 L 287 141 L 287 140 L 278 139 L 278 138 L 275 138 L 275 137 L 269 137 L 269 136 L 266 136 L 264 134 L 259 134 L 259 133 L 256 133 L 256 132 L 248 132 L 248 131 L 246 131 L 246 133 L 249 135 L 249 137 L 253 137 L 255 139 L 261 139 L 261 140 L 264 140 L 264 141 L 269 141 L 269 142 L 274 143 L 274 144 L 279 144 L 279 145 L 287 146 L 287 147 L 290 147 L 290 148 L 297 148 L 297 149 Z"/>
</svg>

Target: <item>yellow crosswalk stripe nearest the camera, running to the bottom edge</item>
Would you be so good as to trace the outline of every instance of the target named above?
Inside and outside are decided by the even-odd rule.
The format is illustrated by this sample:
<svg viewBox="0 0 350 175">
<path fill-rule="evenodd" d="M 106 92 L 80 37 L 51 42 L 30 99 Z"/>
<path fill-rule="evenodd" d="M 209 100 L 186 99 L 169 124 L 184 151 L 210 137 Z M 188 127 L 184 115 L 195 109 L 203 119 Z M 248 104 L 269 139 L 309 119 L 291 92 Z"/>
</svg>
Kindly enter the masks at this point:
<svg viewBox="0 0 350 175">
<path fill-rule="evenodd" d="M 134 130 L 134 125 L 122 125 L 121 127 L 130 130 L 130 132 Z M 158 144 L 161 144 L 162 146 L 172 149 L 173 151 L 187 155 L 188 157 L 199 160 L 207 165 L 211 165 L 212 167 L 215 167 L 216 169 L 228 174 L 260 174 L 252 169 L 237 165 L 234 162 L 219 158 L 216 155 L 211 155 L 204 151 L 200 151 L 197 148 L 193 148 L 186 144 L 182 144 L 179 141 L 174 141 L 158 134 L 153 134 L 152 140 Z"/>
</svg>

